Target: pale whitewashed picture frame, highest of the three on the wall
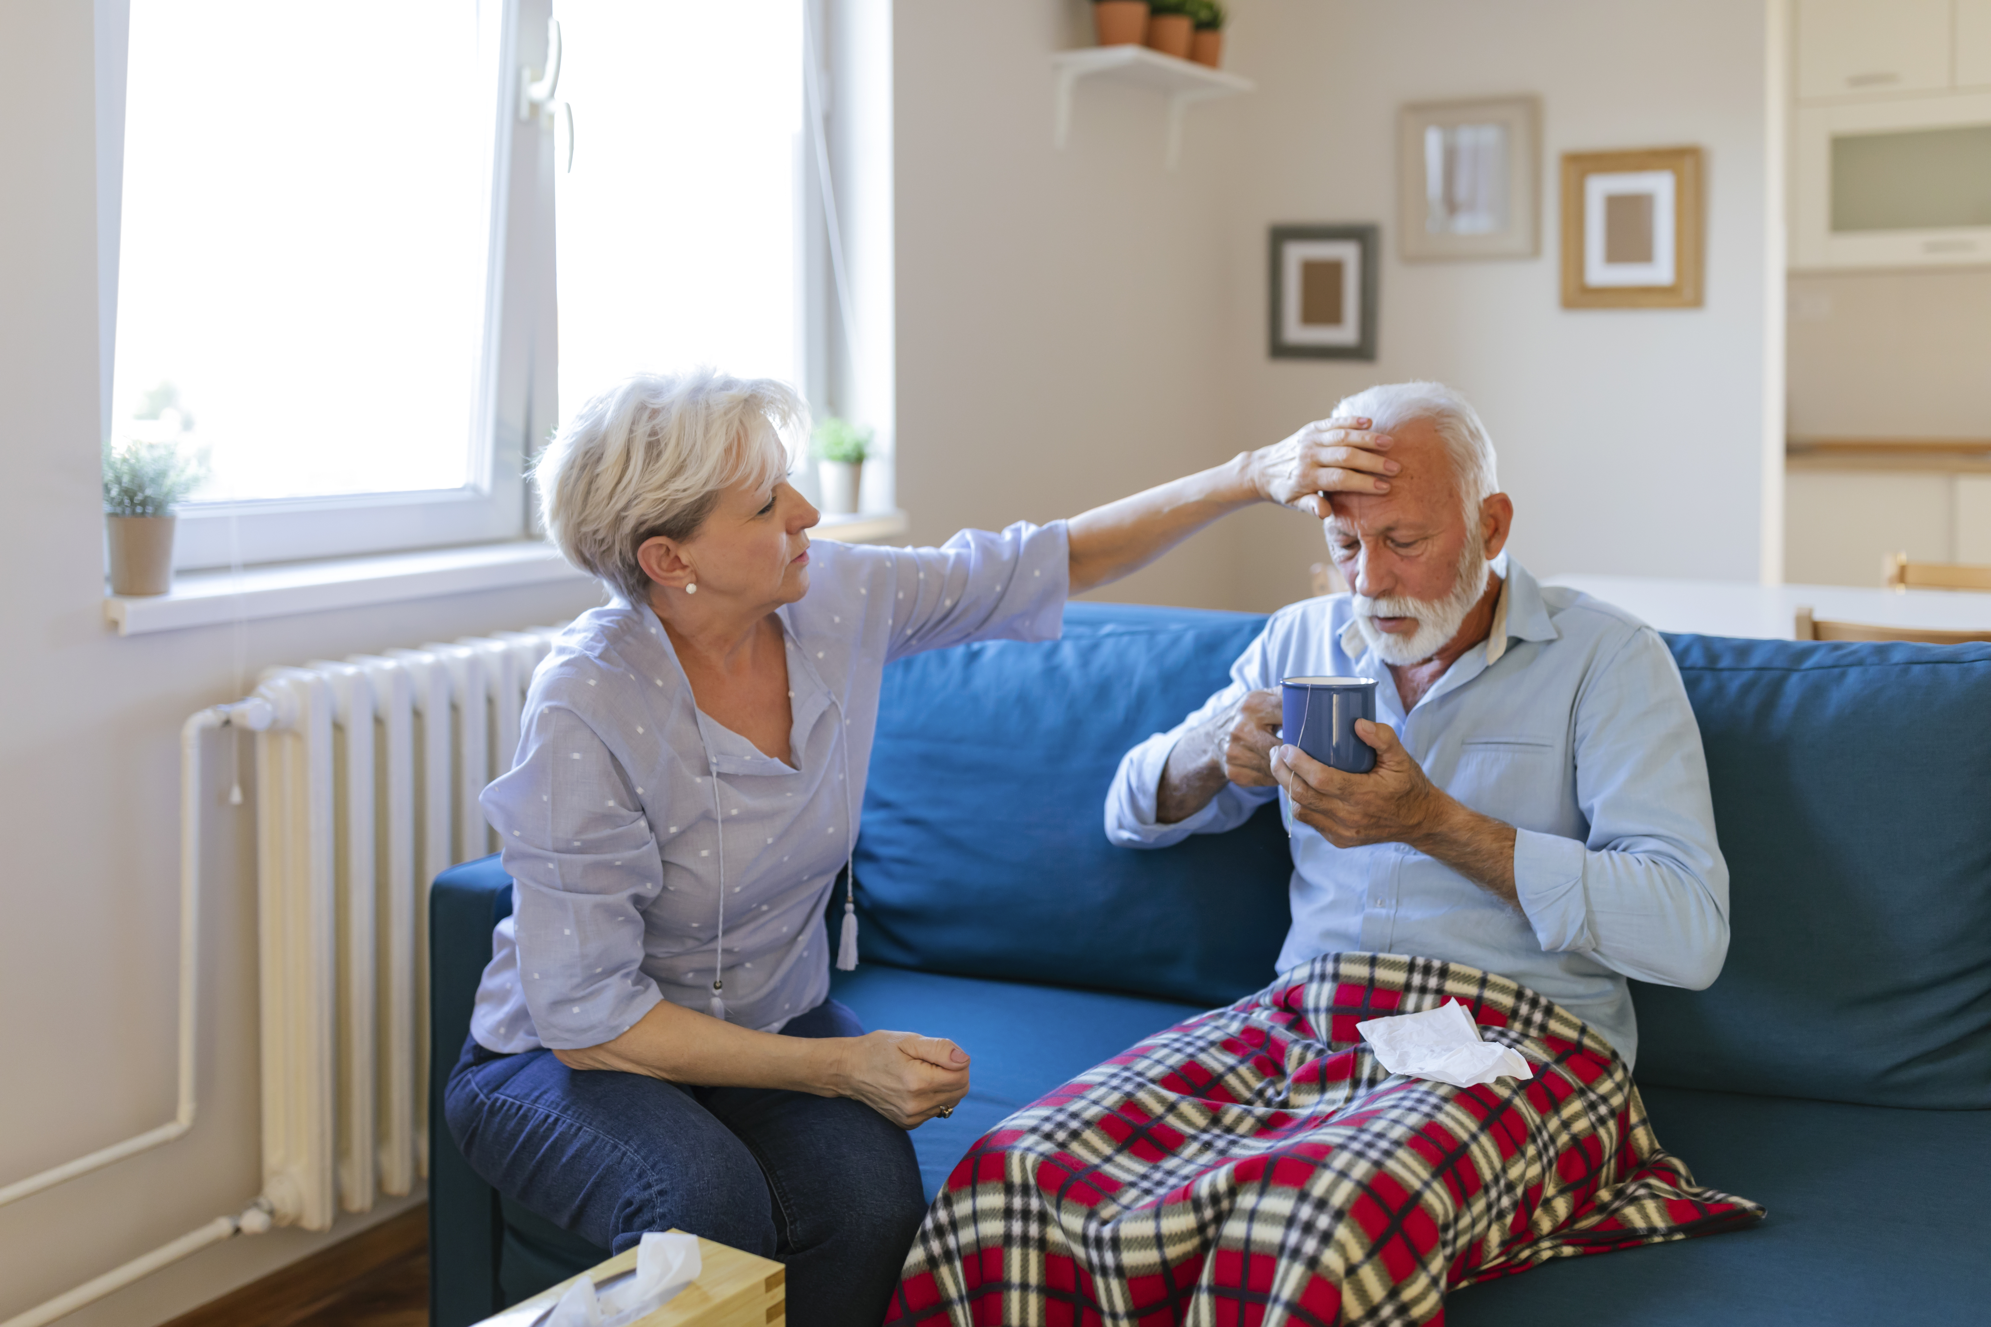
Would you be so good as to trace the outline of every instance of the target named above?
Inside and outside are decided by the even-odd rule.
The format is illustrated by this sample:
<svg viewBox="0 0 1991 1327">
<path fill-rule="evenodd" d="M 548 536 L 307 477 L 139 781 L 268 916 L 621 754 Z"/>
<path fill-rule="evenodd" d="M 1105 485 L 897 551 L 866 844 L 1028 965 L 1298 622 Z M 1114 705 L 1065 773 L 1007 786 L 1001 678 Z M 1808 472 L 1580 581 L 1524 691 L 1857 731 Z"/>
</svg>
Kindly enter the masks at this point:
<svg viewBox="0 0 1991 1327">
<path fill-rule="evenodd" d="M 1398 111 L 1406 263 L 1541 253 L 1541 99 L 1420 101 Z"/>
</svg>

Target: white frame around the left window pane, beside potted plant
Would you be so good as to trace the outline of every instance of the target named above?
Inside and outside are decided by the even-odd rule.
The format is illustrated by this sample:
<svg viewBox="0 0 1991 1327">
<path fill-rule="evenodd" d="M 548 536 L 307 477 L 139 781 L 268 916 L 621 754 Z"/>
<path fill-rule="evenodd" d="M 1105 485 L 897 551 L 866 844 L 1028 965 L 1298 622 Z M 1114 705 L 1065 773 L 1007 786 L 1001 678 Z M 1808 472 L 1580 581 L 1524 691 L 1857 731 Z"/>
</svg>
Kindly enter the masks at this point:
<svg viewBox="0 0 1991 1327">
<path fill-rule="evenodd" d="M 181 571 L 496 543 L 534 533 L 528 458 L 557 422 L 553 125 L 520 121 L 518 70 L 548 54 L 552 0 L 496 0 L 498 117 L 490 269 L 470 479 L 454 489 L 179 507 Z M 111 428 L 129 0 L 98 0 L 100 432 Z"/>
</svg>

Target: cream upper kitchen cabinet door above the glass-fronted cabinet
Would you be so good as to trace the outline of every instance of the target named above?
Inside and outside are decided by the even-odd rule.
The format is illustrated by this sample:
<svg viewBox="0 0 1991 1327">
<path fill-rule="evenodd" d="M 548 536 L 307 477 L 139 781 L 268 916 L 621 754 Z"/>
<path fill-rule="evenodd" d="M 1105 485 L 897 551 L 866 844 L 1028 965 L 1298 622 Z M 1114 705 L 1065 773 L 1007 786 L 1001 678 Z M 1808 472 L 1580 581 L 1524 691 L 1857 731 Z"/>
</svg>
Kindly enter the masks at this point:
<svg viewBox="0 0 1991 1327">
<path fill-rule="evenodd" d="M 1798 99 L 1943 92 L 1955 0 L 1798 0 Z"/>
</svg>

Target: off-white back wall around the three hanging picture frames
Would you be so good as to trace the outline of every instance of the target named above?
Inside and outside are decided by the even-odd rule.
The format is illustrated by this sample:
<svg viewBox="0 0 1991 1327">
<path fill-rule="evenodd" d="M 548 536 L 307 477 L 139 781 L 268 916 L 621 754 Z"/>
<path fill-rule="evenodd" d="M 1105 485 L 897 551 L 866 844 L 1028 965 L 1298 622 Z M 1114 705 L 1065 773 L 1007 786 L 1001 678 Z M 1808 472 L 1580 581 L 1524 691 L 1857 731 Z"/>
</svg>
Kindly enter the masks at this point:
<svg viewBox="0 0 1991 1327">
<path fill-rule="evenodd" d="M 1471 398 L 1537 575 L 1756 579 L 1764 392 L 1764 8 L 1736 0 L 1246 0 L 1232 50 L 1248 155 L 1224 223 L 1232 420 L 1278 436 L 1370 382 L 1438 378 Z M 1541 257 L 1402 263 L 1392 189 L 1406 101 L 1531 92 L 1543 103 Z M 1559 306 L 1559 157 L 1706 153 L 1706 306 Z M 1378 362 L 1264 354 L 1264 231 L 1378 221 Z M 1780 448 L 1780 442 L 1778 442 Z M 1240 597 L 1302 593 L 1312 531 L 1250 519 Z"/>
</svg>

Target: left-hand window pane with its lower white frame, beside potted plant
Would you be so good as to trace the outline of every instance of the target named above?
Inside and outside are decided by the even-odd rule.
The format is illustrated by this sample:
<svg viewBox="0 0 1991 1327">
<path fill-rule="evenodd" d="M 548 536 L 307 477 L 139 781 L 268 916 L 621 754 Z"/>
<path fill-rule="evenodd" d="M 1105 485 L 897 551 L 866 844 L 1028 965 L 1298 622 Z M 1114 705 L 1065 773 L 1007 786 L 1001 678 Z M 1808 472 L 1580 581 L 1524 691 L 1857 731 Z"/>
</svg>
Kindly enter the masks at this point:
<svg viewBox="0 0 1991 1327">
<path fill-rule="evenodd" d="M 181 567 L 524 529 L 502 12 L 131 0 L 110 432 L 207 454 Z"/>
</svg>

